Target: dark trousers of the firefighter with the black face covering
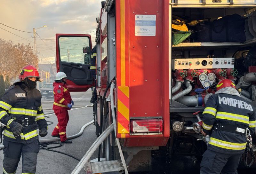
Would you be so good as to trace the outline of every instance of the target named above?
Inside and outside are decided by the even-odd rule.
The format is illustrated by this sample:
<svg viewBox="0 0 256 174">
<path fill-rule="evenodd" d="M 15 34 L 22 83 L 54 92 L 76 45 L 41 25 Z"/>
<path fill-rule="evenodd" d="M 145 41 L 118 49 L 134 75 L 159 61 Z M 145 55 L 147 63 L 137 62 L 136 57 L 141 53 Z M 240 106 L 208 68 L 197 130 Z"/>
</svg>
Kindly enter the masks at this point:
<svg viewBox="0 0 256 174">
<path fill-rule="evenodd" d="M 22 173 L 36 173 L 36 159 L 39 152 L 38 139 L 29 144 L 3 141 L 4 145 L 4 164 L 3 173 L 14 173 L 20 162 L 22 155 Z"/>
</svg>

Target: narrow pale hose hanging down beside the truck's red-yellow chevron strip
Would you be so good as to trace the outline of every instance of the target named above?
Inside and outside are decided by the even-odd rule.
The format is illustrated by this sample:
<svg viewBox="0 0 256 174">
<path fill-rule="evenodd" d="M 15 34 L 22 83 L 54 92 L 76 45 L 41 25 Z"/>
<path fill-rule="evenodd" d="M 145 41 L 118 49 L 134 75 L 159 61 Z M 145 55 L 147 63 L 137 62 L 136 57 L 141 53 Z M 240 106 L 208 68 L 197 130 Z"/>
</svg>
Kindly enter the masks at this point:
<svg viewBox="0 0 256 174">
<path fill-rule="evenodd" d="M 112 84 L 110 86 L 110 100 L 111 100 L 112 119 L 113 119 L 113 123 L 114 123 L 115 135 L 116 135 L 116 114 L 115 114 L 115 108 L 114 108 L 114 95 L 113 95 L 114 88 L 115 88 L 115 84 L 112 82 Z M 122 164 L 124 167 L 124 172 L 125 172 L 125 174 L 128 174 L 128 170 L 127 170 L 126 163 L 124 160 L 124 154 L 122 152 L 122 148 L 121 148 L 118 138 L 116 138 L 116 144 L 118 146 L 119 154 L 120 154 L 121 161 L 122 161 Z"/>
</svg>

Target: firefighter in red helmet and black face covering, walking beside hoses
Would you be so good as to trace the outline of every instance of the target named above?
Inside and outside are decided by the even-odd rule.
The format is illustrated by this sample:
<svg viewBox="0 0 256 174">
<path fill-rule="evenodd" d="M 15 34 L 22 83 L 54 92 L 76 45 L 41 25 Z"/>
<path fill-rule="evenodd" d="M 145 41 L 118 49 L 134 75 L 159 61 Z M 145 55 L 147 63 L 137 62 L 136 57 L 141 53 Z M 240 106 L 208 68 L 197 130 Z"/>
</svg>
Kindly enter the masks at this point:
<svg viewBox="0 0 256 174">
<path fill-rule="evenodd" d="M 0 99 L 0 121 L 4 130 L 4 174 L 14 174 L 22 155 L 22 174 L 36 173 L 39 135 L 47 135 L 47 123 L 41 105 L 41 93 L 36 89 L 39 73 L 32 65 L 22 68 L 20 82 L 14 83 Z"/>
</svg>

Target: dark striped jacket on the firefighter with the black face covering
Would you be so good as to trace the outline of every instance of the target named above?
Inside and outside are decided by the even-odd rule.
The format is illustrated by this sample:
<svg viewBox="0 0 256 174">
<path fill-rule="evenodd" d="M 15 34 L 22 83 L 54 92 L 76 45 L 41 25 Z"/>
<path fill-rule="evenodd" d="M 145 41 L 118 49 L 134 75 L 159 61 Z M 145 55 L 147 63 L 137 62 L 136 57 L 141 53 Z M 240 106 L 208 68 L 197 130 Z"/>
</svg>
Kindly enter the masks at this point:
<svg viewBox="0 0 256 174">
<path fill-rule="evenodd" d="M 23 82 L 12 85 L 0 99 L 0 121 L 6 125 L 4 139 L 27 144 L 38 139 L 37 128 L 48 129 L 41 104 L 41 93 L 28 88 Z M 18 122 L 24 126 L 15 137 L 9 125 Z"/>
</svg>

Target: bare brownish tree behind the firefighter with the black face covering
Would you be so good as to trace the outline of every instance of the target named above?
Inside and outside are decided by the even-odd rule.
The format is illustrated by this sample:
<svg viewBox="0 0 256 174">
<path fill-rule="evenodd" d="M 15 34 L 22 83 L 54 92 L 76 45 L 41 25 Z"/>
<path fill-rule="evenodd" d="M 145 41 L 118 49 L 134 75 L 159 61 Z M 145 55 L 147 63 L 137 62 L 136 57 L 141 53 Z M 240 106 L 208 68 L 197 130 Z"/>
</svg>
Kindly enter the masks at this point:
<svg viewBox="0 0 256 174">
<path fill-rule="evenodd" d="M 38 58 L 30 44 L 15 45 L 12 41 L 0 40 L 0 75 L 12 79 L 28 64 L 38 67 Z"/>
</svg>

